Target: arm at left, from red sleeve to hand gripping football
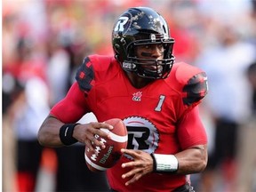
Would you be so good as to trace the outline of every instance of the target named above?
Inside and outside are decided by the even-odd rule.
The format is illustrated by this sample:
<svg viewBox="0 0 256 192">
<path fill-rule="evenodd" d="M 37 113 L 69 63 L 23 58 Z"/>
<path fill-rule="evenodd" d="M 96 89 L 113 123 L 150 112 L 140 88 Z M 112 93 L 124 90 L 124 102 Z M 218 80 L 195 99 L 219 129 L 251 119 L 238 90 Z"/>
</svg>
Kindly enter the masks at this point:
<svg viewBox="0 0 256 192">
<path fill-rule="evenodd" d="M 92 143 L 104 148 L 94 135 L 108 137 L 108 134 L 101 132 L 100 128 L 112 129 L 112 126 L 97 122 L 76 124 L 86 113 L 84 103 L 84 93 L 76 83 L 73 84 L 67 96 L 52 108 L 50 115 L 41 125 L 38 132 L 39 143 L 46 147 L 60 147 L 80 141 L 92 150 Z"/>
</svg>

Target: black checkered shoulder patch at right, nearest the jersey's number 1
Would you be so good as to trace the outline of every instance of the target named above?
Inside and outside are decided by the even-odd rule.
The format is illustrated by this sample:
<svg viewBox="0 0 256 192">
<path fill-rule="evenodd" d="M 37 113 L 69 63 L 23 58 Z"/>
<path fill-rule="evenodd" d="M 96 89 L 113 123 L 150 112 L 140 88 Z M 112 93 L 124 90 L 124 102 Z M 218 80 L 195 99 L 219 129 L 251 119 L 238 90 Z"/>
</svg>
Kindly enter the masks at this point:
<svg viewBox="0 0 256 192">
<path fill-rule="evenodd" d="M 187 93 L 187 96 L 183 98 L 183 103 L 185 105 L 190 106 L 194 103 L 196 104 L 199 100 L 202 100 L 208 92 L 206 74 L 201 72 L 196 74 L 196 76 L 192 76 L 188 80 L 188 84 L 184 86 L 182 92 Z"/>
</svg>

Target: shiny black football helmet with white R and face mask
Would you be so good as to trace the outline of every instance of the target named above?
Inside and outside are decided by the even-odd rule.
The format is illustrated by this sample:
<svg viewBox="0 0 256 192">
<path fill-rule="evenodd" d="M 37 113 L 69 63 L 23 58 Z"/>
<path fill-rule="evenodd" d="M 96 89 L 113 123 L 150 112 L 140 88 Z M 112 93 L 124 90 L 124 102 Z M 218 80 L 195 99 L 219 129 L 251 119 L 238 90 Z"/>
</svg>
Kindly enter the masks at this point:
<svg viewBox="0 0 256 192">
<path fill-rule="evenodd" d="M 137 45 L 162 44 L 164 59 L 140 59 L 134 52 Z M 125 71 L 132 71 L 138 76 L 160 79 L 166 78 L 172 69 L 174 39 L 164 18 L 148 7 L 134 7 L 121 14 L 113 28 L 112 45 L 118 60 Z M 156 70 L 148 70 L 142 65 L 154 65 Z M 161 70 L 157 66 L 162 66 Z"/>
</svg>

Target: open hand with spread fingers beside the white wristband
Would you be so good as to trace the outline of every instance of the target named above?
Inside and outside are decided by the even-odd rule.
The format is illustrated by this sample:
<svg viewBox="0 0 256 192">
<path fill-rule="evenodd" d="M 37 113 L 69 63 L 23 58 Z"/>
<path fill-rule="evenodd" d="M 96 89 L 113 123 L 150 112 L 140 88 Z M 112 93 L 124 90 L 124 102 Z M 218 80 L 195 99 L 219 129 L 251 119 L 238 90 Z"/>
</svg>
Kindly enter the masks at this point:
<svg viewBox="0 0 256 192">
<path fill-rule="evenodd" d="M 122 167 L 132 168 L 130 172 L 126 172 L 122 175 L 122 178 L 131 178 L 128 180 L 125 185 L 128 186 L 133 182 L 140 180 L 140 178 L 149 172 L 153 172 L 153 159 L 152 157 L 141 150 L 132 150 L 132 149 L 121 149 L 122 153 L 125 153 L 133 157 L 132 162 L 122 164 Z"/>
</svg>

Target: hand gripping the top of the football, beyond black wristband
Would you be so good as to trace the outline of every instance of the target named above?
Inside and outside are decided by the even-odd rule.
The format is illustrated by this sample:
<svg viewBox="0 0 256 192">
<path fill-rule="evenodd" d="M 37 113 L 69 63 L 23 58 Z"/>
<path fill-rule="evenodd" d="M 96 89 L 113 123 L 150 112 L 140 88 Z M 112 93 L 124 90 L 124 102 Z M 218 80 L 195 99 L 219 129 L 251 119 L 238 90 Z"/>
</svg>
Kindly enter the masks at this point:
<svg viewBox="0 0 256 192">
<path fill-rule="evenodd" d="M 98 122 L 92 122 L 89 124 L 77 124 L 73 132 L 73 137 L 76 138 L 76 140 L 79 142 L 84 143 L 87 148 L 90 148 L 90 150 L 94 150 L 96 146 L 105 148 L 104 144 L 95 138 L 95 135 L 99 135 L 102 138 L 110 138 L 110 135 L 101 131 L 100 128 L 112 130 L 113 126 L 110 124 Z"/>
</svg>

